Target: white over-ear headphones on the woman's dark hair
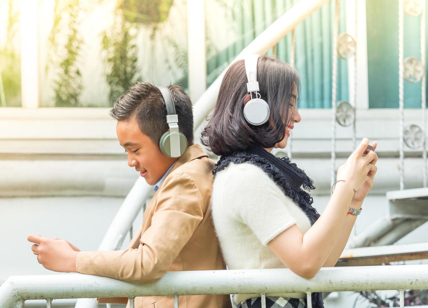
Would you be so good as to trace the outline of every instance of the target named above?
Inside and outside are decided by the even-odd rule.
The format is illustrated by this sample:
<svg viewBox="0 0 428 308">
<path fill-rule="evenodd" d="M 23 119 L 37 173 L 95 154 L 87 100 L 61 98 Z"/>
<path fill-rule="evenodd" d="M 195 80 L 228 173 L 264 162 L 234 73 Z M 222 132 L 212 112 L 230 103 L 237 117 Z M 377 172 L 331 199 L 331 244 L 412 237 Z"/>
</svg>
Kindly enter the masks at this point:
<svg viewBox="0 0 428 308">
<path fill-rule="evenodd" d="M 262 100 L 259 89 L 259 82 L 257 81 L 257 61 L 258 54 L 253 54 L 245 57 L 245 72 L 247 73 L 247 91 L 251 95 L 251 100 L 244 106 L 244 118 L 248 123 L 253 125 L 262 125 L 268 121 L 270 109 L 268 103 Z M 253 93 L 255 98 L 253 98 Z"/>
</svg>

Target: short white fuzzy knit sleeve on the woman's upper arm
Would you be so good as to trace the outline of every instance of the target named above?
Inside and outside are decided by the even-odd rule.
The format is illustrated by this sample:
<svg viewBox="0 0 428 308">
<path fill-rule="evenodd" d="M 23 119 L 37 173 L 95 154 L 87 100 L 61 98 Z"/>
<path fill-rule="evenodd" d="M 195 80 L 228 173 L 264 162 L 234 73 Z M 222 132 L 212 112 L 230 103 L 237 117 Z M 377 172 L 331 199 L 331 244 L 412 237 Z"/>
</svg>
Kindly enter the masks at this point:
<svg viewBox="0 0 428 308">
<path fill-rule="evenodd" d="M 290 208 L 297 204 L 261 168 L 250 163 L 230 168 L 223 190 L 224 202 L 263 245 L 296 224 Z"/>
</svg>

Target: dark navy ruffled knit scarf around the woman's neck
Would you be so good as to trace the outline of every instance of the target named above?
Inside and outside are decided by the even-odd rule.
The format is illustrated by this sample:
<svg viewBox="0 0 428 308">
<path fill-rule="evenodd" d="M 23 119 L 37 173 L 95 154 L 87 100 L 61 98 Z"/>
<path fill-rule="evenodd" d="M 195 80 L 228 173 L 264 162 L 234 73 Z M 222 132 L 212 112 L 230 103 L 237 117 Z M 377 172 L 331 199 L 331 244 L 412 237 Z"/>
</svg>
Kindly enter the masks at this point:
<svg viewBox="0 0 428 308">
<path fill-rule="evenodd" d="M 229 156 L 221 156 L 213 170 L 213 175 L 229 166 L 230 163 L 251 163 L 263 171 L 282 188 L 283 193 L 291 198 L 308 216 L 311 225 L 315 223 L 320 214 L 312 207 L 312 197 L 307 191 L 315 189 L 313 181 L 306 173 L 291 163 L 288 157 L 276 157 L 258 145 L 251 145 L 247 150 L 234 152 Z M 321 292 L 312 293 L 312 308 L 324 308 Z"/>
</svg>

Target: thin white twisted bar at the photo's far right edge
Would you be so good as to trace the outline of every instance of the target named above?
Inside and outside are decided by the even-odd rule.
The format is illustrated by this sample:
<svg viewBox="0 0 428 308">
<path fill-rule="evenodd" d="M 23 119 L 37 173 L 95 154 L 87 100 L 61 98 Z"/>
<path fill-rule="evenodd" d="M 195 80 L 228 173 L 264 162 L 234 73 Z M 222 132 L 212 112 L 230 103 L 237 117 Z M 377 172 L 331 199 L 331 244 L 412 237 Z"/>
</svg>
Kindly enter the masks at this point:
<svg viewBox="0 0 428 308">
<path fill-rule="evenodd" d="M 425 1 L 422 1 L 423 9 L 421 14 L 421 61 L 422 65 L 424 66 L 424 70 L 426 70 L 426 64 L 425 64 L 425 14 L 426 14 L 426 5 Z M 422 83 L 421 83 L 421 104 L 422 104 L 422 130 L 424 131 L 424 142 L 422 144 L 422 160 L 424 163 L 424 167 L 422 169 L 422 181 L 423 181 L 423 187 L 427 187 L 427 148 L 426 148 L 426 75 L 425 72 L 422 76 Z"/>
</svg>

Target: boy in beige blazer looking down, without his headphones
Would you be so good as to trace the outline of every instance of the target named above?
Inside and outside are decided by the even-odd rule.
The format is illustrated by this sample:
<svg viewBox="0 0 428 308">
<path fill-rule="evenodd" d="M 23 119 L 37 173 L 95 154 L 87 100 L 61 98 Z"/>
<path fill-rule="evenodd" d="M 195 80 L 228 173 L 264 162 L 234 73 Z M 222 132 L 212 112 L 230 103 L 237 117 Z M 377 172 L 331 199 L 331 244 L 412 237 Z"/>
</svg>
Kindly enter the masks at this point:
<svg viewBox="0 0 428 308">
<path fill-rule="evenodd" d="M 148 184 L 155 185 L 156 191 L 128 249 L 81 252 L 65 240 L 29 235 L 28 240 L 35 243 L 32 250 L 43 267 L 141 284 L 157 281 L 166 271 L 224 269 L 211 221 L 214 161 L 199 145 L 193 144 L 190 98 L 181 87 L 169 86 L 168 89 L 175 103 L 178 128 L 188 143 L 178 158 L 166 156 L 160 149 L 162 135 L 169 130 L 166 102 L 160 89 L 150 83 L 137 83 L 110 110 L 110 115 L 118 121 L 116 133 L 120 145 L 128 153 L 128 165 L 140 172 Z M 163 88 L 163 91 L 168 89 Z M 170 107 L 168 114 L 169 110 Z M 98 301 L 127 303 L 128 299 Z M 227 295 L 180 296 L 179 305 L 189 308 L 231 306 Z M 172 308 L 174 300 L 172 296 L 137 297 L 135 307 Z"/>
</svg>

